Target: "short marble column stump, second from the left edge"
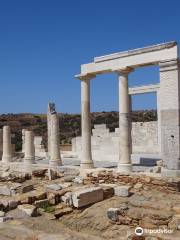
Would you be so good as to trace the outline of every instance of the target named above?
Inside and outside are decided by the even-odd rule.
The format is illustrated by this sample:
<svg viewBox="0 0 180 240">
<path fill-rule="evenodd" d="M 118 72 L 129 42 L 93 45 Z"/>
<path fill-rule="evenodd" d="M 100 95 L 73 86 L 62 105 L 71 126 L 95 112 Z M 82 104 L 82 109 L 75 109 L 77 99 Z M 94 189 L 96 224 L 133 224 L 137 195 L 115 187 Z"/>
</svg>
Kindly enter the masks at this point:
<svg viewBox="0 0 180 240">
<path fill-rule="evenodd" d="M 34 133 L 32 131 L 25 131 L 24 150 L 24 163 L 35 163 Z"/>
</svg>

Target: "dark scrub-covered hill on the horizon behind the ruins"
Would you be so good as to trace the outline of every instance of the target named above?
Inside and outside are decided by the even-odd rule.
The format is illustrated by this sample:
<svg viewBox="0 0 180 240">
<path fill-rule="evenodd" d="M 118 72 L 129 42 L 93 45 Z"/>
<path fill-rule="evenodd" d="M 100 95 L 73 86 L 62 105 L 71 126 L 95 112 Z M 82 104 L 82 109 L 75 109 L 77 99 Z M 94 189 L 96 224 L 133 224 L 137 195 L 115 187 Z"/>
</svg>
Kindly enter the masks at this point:
<svg viewBox="0 0 180 240">
<path fill-rule="evenodd" d="M 71 143 L 71 139 L 81 134 L 81 115 L 59 113 L 60 116 L 60 141 L 62 144 Z M 133 122 L 148 122 L 157 120 L 156 110 L 134 111 L 131 113 Z M 119 125 L 119 113 L 112 112 L 94 112 L 91 113 L 92 128 L 94 124 L 107 124 L 110 131 L 114 131 Z M 15 133 L 13 139 L 16 144 L 16 150 L 21 149 L 22 129 L 34 131 L 35 135 L 42 135 L 44 143 L 47 142 L 47 119 L 45 114 L 2 114 L 0 115 L 0 128 L 4 125 L 11 127 L 12 133 Z"/>
</svg>

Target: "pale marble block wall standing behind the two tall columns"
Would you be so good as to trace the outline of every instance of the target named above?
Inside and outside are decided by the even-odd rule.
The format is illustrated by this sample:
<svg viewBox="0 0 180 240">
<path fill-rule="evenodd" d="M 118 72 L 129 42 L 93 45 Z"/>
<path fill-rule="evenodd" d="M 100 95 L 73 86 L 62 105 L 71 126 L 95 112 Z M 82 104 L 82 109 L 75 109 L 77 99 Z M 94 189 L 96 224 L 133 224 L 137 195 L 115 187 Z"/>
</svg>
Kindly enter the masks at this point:
<svg viewBox="0 0 180 240">
<path fill-rule="evenodd" d="M 96 161 L 118 161 L 119 128 L 109 132 L 105 124 L 95 125 L 92 130 L 92 157 Z M 132 152 L 158 154 L 157 122 L 132 123 Z M 81 137 L 72 139 L 72 151 L 81 158 Z"/>
</svg>

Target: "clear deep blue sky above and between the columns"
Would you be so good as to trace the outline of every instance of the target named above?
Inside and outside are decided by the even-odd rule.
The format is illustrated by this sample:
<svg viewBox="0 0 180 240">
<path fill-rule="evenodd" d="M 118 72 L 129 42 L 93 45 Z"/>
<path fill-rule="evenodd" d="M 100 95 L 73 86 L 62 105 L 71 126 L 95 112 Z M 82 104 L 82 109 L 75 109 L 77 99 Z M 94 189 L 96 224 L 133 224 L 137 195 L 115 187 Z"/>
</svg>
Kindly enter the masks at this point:
<svg viewBox="0 0 180 240">
<path fill-rule="evenodd" d="M 180 41 L 180 1 L 0 0 L 0 113 L 80 112 L 80 64 L 93 57 Z M 158 68 L 138 69 L 130 85 L 156 83 Z M 133 98 L 155 108 L 156 96 Z M 118 110 L 115 74 L 91 83 L 91 111 Z"/>
</svg>

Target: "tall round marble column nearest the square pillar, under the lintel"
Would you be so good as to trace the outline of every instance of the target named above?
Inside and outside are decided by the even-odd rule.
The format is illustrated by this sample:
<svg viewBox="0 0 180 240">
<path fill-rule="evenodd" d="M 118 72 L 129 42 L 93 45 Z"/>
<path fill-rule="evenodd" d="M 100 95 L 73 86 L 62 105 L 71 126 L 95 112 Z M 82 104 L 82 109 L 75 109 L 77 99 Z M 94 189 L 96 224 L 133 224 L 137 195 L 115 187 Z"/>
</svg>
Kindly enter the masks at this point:
<svg viewBox="0 0 180 240">
<path fill-rule="evenodd" d="M 128 74 L 131 70 L 118 71 L 119 79 L 119 128 L 120 128 L 120 156 L 118 171 L 130 172 L 132 139 L 130 121 L 130 97 L 128 93 Z"/>
</svg>

